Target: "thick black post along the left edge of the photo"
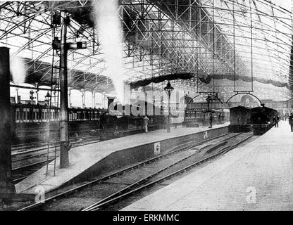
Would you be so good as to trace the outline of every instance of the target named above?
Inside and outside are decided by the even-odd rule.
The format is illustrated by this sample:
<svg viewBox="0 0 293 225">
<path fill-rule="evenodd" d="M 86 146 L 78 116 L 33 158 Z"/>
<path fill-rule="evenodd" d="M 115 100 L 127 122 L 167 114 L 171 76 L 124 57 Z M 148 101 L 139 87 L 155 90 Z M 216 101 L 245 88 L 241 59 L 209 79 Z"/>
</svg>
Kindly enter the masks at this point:
<svg viewBox="0 0 293 225">
<path fill-rule="evenodd" d="M 0 200 L 12 198 L 15 188 L 11 178 L 11 111 L 9 49 L 0 47 Z M 14 118 L 13 118 L 14 119 Z"/>
</svg>

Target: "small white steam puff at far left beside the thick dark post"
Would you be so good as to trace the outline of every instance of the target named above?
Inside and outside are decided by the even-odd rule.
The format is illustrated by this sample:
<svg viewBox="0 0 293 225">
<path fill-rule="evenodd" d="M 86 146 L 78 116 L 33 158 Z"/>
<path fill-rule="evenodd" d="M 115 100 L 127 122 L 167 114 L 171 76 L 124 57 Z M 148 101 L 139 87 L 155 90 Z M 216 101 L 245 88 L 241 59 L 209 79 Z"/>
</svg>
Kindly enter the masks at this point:
<svg viewBox="0 0 293 225">
<path fill-rule="evenodd" d="M 12 74 L 13 81 L 15 84 L 21 84 L 25 82 L 25 64 L 23 63 L 23 59 L 15 56 L 11 58 L 10 62 L 10 71 Z"/>
</svg>

